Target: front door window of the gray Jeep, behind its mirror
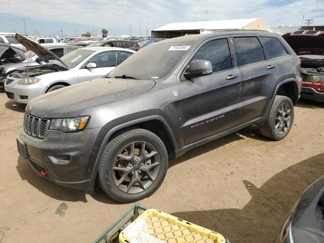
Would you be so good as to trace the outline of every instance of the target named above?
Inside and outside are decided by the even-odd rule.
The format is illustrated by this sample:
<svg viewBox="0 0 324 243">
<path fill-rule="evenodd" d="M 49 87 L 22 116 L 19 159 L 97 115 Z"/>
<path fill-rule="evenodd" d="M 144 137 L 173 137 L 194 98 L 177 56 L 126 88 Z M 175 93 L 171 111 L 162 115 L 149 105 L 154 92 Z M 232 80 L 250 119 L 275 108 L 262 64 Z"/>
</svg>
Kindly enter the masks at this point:
<svg viewBox="0 0 324 243">
<path fill-rule="evenodd" d="M 213 72 L 232 68 L 232 59 L 227 39 L 215 39 L 206 43 L 192 60 L 208 60 L 212 63 Z"/>
</svg>

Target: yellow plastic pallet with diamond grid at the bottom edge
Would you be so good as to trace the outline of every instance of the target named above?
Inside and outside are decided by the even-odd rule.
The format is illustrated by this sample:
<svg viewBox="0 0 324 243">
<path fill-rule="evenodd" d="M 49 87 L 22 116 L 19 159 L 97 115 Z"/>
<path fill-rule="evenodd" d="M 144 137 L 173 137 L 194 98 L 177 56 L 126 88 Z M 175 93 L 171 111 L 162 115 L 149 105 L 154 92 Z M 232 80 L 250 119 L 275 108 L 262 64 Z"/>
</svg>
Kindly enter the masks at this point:
<svg viewBox="0 0 324 243">
<path fill-rule="evenodd" d="M 219 233 L 156 209 L 146 210 L 133 223 L 139 219 L 145 220 L 150 235 L 167 243 L 225 243 L 225 238 Z M 119 242 L 131 242 L 131 238 L 124 233 L 124 230 L 119 234 Z"/>
</svg>

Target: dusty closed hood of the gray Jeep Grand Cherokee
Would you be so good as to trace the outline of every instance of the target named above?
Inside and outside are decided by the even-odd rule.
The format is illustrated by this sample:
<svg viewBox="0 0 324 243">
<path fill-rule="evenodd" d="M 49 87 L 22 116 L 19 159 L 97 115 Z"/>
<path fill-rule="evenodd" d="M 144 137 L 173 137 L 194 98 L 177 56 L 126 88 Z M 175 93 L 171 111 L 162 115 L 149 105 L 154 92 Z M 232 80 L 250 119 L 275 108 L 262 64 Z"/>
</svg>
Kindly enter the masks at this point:
<svg viewBox="0 0 324 243">
<path fill-rule="evenodd" d="M 77 117 L 86 109 L 144 94 L 154 86 L 153 80 L 97 78 L 34 98 L 26 110 L 31 107 L 33 115 L 44 118 Z"/>
</svg>

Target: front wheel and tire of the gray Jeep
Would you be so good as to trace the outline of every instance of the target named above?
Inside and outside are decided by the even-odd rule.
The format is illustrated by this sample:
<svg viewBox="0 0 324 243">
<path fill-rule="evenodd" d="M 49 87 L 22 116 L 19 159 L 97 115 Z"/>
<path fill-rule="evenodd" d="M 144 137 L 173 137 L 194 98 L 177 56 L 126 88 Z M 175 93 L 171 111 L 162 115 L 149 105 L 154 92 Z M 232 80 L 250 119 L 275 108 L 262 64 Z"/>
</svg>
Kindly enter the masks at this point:
<svg viewBox="0 0 324 243">
<path fill-rule="evenodd" d="M 125 149 L 125 146 L 127 147 L 130 144 L 136 144 L 136 143 L 144 143 L 144 151 L 145 151 L 145 155 L 150 155 L 151 153 L 153 153 L 152 151 L 150 153 L 148 153 L 146 151 L 146 147 L 150 145 L 151 147 L 154 147 L 154 154 L 155 155 L 150 155 L 152 157 L 149 158 L 150 163 L 152 163 L 152 160 L 154 161 L 155 158 L 158 158 L 157 160 L 159 161 L 158 164 L 158 171 L 153 172 L 155 173 L 155 179 L 154 180 L 147 180 L 144 183 L 151 183 L 150 185 L 148 185 L 147 188 L 144 188 L 142 182 L 141 185 L 143 186 L 140 187 L 140 184 L 138 183 L 138 186 L 135 186 L 136 183 L 134 184 L 134 187 L 130 186 L 130 189 L 133 190 L 142 190 L 139 192 L 135 192 L 135 193 L 128 193 L 130 190 L 127 189 L 128 186 L 127 185 L 123 185 L 123 183 L 125 182 L 125 184 L 129 183 L 129 185 L 131 184 L 133 177 L 135 178 L 134 172 L 135 169 L 137 170 L 137 172 L 139 172 L 139 174 L 136 174 L 136 178 L 138 178 L 139 175 L 142 175 L 140 173 L 143 173 L 143 171 L 141 172 L 141 168 L 135 168 L 135 156 L 133 158 L 133 161 L 129 161 L 129 160 L 124 160 L 123 158 L 121 158 L 122 161 L 125 161 L 129 166 L 125 166 L 123 169 L 129 169 L 131 167 L 131 169 L 133 170 L 131 173 L 128 172 L 126 179 L 123 179 L 119 185 L 119 188 L 117 187 L 116 184 L 118 184 L 118 182 L 116 182 L 116 175 L 118 176 L 117 173 L 119 173 L 120 171 L 117 170 L 116 168 L 119 169 L 119 163 L 120 163 L 120 155 L 123 155 L 121 151 L 126 151 L 127 149 Z M 146 145 L 145 145 L 146 144 Z M 136 145 L 138 146 L 138 145 Z M 142 146 L 143 147 L 143 146 Z M 134 145 L 133 145 L 133 151 L 135 154 L 135 151 L 142 151 L 142 147 L 141 149 L 138 149 L 135 147 L 134 149 Z M 130 147 L 127 147 L 130 148 Z M 156 151 L 155 151 L 156 150 Z M 118 156 L 117 156 L 118 155 Z M 124 155 L 123 155 L 124 156 Z M 130 156 L 130 155 L 128 155 Z M 139 157 L 137 157 L 139 158 Z M 138 159 L 137 159 L 138 160 Z M 118 162 L 119 161 L 119 162 Z M 147 165 L 145 162 L 145 160 L 141 160 L 144 161 L 144 167 L 145 166 L 150 166 L 150 165 L 154 165 L 150 164 Z M 118 163 L 118 166 L 116 167 L 116 164 Z M 131 163 L 134 163 L 133 165 L 130 165 Z M 142 163 L 142 162 L 140 162 Z M 141 166 L 143 164 L 140 164 Z M 139 166 L 139 164 L 137 165 Z M 131 203 L 133 201 L 137 201 L 140 200 L 144 197 L 148 197 L 151 194 L 153 194 L 153 192 L 155 192 L 158 187 L 161 185 L 161 183 L 163 182 L 164 178 L 166 177 L 167 174 L 167 169 L 168 169 L 168 152 L 166 149 L 166 146 L 164 145 L 164 143 L 161 141 L 161 139 L 159 137 L 157 137 L 154 133 L 144 130 L 144 129 L 133 129 L 133 130 L 129 130 L 129 131 L 125 131 L 124 133 L 119 134 L 118 136 L 116 136 L 115 138 L 113 138 L 111 141 L 108 142 L 108 144 L 105 147 L 105 150 L 102 154 L 101 160 L 100 160 L 100 164 L 99 164 L 99 170 L 98 170 L 98 183 L 101 187 L 101 189 L 112 199 L 119 201 L 121 203 Z M 149 169 L 149 174 L 150 174 L 150 170 L 155 170 L 155 169 Z M 135 173 L 137 173 L 135 171 Z M 123 172 L 124 173 L 124 172 Z M 124 174 L 122 174 L 124 176 Z M 120 176 L 120 175 L 119 175 Z M 150 175 L 152 178 L 152 175 Z M 120 180 L 121 180 L 120 176 Z M 142 176 L 145 178 L 145 176 Z M 149 178 L 147 176 L 147 178 Z M 141 179 L 140 179 L 141 180 Z M 144 179 L 143 179 L 144 180 Z M 122 191 L 120 189 L 120 186 L 123 188 L 126 188 L 126 192 Z M 129 190 L 129 191 L 127 191 Z"/>
</svg>

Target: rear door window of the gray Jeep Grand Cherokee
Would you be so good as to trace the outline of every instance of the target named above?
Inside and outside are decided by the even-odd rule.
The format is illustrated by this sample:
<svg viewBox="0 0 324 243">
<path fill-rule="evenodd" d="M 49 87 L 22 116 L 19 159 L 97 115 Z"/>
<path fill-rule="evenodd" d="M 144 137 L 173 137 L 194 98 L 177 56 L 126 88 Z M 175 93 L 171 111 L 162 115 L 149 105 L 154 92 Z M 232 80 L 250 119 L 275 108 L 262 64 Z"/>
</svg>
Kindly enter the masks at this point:
<svg viewBox="0 0 324 243">
<path fill-rule="evenodd" d="M 263 48 L 257 37 L 235 37 L 233 44 L 238 66 L 265 60 Z"/>
</svg>

